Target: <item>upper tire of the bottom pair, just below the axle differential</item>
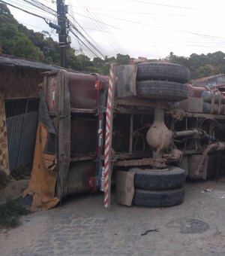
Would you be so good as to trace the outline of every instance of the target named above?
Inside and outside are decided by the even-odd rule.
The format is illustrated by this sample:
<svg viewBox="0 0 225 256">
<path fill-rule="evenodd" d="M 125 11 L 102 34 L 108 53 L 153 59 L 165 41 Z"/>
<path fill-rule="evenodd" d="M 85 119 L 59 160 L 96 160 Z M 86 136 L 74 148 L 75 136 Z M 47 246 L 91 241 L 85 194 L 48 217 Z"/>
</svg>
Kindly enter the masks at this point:
<svg viewBox="0 0 225 256">
<path fill-rule="evenodd" d="M 144 190 L 182 187 L 186 178 L 184 169 L 175 166 L 169 166 L 165 171 L 132 168 L 130 172 L 135 172 L 134 187 Z"/>
</svg>

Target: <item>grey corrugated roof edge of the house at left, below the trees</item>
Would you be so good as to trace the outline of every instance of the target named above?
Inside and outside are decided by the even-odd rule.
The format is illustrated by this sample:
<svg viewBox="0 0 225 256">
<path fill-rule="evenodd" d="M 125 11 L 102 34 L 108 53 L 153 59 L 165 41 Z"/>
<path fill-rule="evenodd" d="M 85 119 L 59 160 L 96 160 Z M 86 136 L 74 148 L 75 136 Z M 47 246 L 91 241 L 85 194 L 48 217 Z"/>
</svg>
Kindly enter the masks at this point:
<svg viewBox="0 0 225 256">
<path fill-rule="evenodd" d="M 48 65 L 42 62 L 33 62 L 26 59 L 13 59 L 5 56 L 0 56 L 0 66 L 23 66 L 32 69 L 43 69 L 43 70 L 56 70 L 62 69 L 62 67 Z"/>
</svg>

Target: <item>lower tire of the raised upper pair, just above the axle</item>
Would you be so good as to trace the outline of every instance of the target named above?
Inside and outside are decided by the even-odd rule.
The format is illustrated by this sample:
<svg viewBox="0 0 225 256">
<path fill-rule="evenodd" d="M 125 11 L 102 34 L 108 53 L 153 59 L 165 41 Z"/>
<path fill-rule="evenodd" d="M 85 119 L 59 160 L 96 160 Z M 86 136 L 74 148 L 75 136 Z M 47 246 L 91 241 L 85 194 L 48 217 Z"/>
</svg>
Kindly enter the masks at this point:
<svg viewBox="0 0 225 256">
<path fill-rule="evenodd" d="M 168 81 L 136 82 L 136 98 L 179 102 L 188 97 L 187 84 Z"/>
</svg>

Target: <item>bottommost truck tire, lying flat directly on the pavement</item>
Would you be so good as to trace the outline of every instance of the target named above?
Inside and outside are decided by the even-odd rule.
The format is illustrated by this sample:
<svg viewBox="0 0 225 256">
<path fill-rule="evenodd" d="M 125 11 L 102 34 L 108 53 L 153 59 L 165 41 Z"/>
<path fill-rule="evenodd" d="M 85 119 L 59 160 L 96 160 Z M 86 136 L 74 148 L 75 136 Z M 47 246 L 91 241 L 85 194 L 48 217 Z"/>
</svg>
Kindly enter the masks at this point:
<svg viewBox="0 0 225 256">
<path fill-rule="evenodd" d="M 168 207 L 184 202 L 184 187 L 171 190 L 135 190 L 134 206 Z"/>
</svg>

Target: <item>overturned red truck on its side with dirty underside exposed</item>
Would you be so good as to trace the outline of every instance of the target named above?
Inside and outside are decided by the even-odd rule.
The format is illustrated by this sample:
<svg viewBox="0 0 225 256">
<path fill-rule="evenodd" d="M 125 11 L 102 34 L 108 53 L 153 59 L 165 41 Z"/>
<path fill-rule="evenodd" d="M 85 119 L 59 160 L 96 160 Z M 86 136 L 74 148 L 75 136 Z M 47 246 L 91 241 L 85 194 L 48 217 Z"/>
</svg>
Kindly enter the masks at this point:
<svg viewBox="0 0 225 256">
<path fill-rule="evenodd" d="M 187 84 L 167 62 L 111 66 L 110 78 L 66 71 L 44 75 L 31 181 L 33 207 L 111 184 L 124 205 L 184 201 L 185 179 L 223 174 L 223 87 Z"/>
</svg>

